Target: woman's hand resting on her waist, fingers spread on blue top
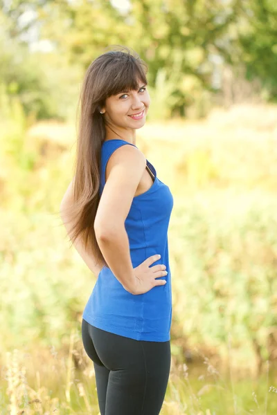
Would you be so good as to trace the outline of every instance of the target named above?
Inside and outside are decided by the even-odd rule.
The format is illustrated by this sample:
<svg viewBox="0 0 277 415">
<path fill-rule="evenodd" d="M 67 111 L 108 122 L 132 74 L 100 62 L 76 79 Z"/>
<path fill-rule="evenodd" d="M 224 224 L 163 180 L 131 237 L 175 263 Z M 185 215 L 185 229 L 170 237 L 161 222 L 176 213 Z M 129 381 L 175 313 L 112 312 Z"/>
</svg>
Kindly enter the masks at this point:
<svg viewBox="0 0 277 415">
<path fill-rule="evenodd" d="M 144 294 L 150 291 L 154 286 L 161 286 L 166 284 L 165 279 L 156 279 L 159 277 L 164 277 L 168 274 L 166 271 L 166 266 L 163 264 L 158 264 L 150 267 L 151 264 L 158 261 L 160 258 L 161 255 L 152 255 L 152 257 L 145 259 L 141 265 L 134 268 L 135 286 L 132 290 L 132 294 Z"/>
</svg>

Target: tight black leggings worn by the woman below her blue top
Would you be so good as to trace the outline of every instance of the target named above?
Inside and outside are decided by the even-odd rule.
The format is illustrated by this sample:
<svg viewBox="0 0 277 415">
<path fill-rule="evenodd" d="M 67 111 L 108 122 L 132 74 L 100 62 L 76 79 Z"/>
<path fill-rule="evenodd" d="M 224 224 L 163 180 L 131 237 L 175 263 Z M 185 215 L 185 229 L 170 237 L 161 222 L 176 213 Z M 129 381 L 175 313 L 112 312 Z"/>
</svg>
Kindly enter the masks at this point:
<svg viewBox="0 0 277 415">
<path fill-rule="evenodd" d="M 170 340 L 134 340 L 82 320 L 82 342 L 93 360 L 101 415 L 159 414 L 170 372 Z"/>
</svg>

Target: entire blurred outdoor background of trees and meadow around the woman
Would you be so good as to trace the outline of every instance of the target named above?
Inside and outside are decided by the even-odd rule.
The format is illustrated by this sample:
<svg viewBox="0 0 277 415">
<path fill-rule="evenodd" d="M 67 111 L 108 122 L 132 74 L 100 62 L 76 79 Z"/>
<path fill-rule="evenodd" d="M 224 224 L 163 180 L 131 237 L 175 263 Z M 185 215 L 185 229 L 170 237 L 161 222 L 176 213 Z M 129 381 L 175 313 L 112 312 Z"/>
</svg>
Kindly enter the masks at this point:
<svg viewBox="0 0 277 415">
<path fill-rule="evenodd" d="M 277 3 L 0 1 L 0 413 L 100 415 L 82 311 L 96 282 L 60 202 L 84 72 L 148 65 L 136 142 L 174 197 L 161 415 L 277 413 Z"/>
</svg>

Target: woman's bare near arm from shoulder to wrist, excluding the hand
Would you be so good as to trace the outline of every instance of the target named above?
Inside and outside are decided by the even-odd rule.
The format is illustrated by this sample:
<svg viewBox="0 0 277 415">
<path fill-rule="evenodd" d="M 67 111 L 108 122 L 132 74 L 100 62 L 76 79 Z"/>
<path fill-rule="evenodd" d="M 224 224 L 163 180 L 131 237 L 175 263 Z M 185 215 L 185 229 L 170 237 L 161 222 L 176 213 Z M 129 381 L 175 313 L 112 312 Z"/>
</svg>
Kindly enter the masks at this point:
<svg viewBox="0 0 277 415">
<path fill-rule="evenodd" d="M 129 252 L 125 219 L 145 170 L 146 160 L 136 147 L 124 145 L 111 155 L 111 167 L 100 198 L 94 229 L 109 268 L 126 291 L 134 294 L 136 277 Z"/>
</svg>

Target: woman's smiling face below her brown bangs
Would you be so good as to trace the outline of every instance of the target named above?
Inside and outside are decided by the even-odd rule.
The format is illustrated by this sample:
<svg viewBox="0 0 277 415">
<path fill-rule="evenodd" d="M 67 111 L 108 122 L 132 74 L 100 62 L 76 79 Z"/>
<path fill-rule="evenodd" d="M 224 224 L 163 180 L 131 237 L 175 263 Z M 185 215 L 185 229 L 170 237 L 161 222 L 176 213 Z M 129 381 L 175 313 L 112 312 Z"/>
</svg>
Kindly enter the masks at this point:
<svg viewBox="0 0 277 415">
<path fill-rule="evenodd" d="M 150 96 L 146 85 L 139 82 L 139 89 L 134 91 L 121 91 L 107 98 L 105 113 L 107 124 L 127 129 L 138 129 L 145 124 L 145 116 L 150 106 Z"/>
</svg>

